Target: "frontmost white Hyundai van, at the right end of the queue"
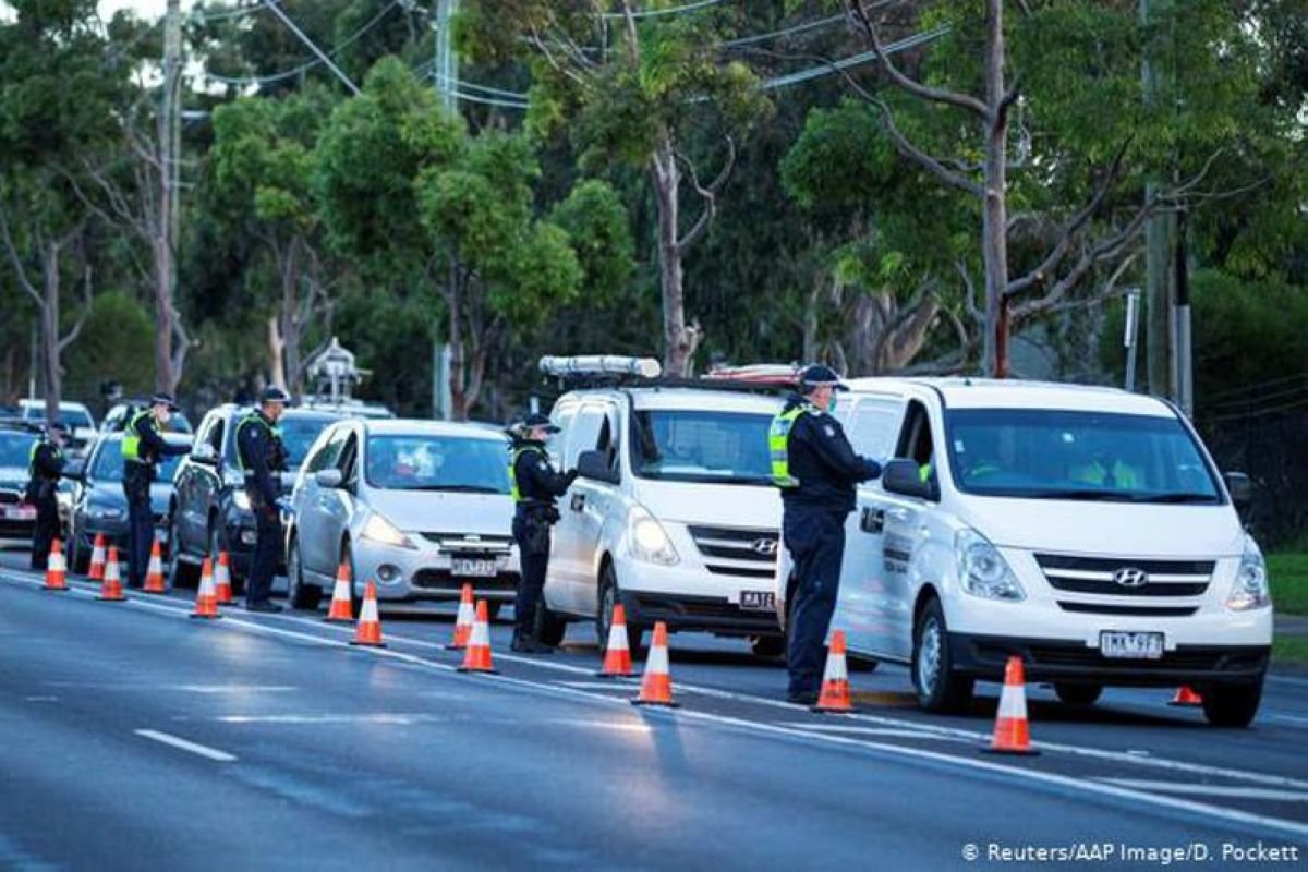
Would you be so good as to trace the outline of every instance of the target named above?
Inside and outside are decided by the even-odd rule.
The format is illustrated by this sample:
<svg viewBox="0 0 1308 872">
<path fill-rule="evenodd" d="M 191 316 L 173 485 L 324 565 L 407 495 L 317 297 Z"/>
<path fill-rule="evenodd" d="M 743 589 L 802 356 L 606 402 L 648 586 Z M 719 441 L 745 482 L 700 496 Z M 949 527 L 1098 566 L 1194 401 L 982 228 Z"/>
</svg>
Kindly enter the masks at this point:
<svg viewBox="0 0 1308 872">
<path fill-rule="evenodd" d="M 1189 421 L 1112 388 L 858 379 L 840 417 L 863 455 L 835 629 L 909 664 L 922 707 L 967 709 L 1020 655 L 1028 680 L 1091 705 L 1105 685 L 1193 685 L 1247 726 L 1271 647 L 1262 554 Z M 785 617 L 789 560 L 778 571 Z"/>
</svg>

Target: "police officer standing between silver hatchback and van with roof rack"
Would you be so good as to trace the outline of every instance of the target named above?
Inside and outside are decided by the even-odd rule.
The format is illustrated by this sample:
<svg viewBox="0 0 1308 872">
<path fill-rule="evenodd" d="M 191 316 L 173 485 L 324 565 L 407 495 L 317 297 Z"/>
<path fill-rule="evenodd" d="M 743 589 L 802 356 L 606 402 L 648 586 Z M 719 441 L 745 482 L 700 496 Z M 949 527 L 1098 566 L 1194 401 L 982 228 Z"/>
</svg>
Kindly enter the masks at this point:
<svg viewBox="0 0 1308 872">
<path fill-rule="evenodd" d="M 526 654 L 552 654 L 539 638 L 540 599 L 549 566 L 549 527 L 559 520 L 555 499 L 564 495 L 577 478 L 577 471 L 560 473 L 549 464 L 545 439 L 559 428 L 543 414 L 530 414 L 514 437 L 509 477 L 513 484 L 513 537 L 518 543 L 522 574 L 513 604 L 515 626 L 513 650 Z"/>
</svg>

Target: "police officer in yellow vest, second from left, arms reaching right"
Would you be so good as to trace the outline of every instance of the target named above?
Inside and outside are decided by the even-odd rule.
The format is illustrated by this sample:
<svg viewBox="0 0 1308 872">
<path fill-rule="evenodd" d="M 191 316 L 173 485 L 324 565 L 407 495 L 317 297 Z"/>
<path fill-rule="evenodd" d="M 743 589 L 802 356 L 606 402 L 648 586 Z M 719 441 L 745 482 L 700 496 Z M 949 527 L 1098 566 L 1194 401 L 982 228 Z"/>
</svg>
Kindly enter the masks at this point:
<svg viewBox="0 0 1308 872">
<path fill-rule="evenodd" d="M 123 429 L 123 494 L 127 495 L 128 545 L 127 583 L 140 587 L 154 543 L 154 510 L 150 507 L 150 482 L 158 461 L 173 454 L 187 454 L 184 444 L 169 444 L 162 431 L 177 412 L 170 394 L 156 394 L 150 405 L 141 409 Z"/>
</svg>

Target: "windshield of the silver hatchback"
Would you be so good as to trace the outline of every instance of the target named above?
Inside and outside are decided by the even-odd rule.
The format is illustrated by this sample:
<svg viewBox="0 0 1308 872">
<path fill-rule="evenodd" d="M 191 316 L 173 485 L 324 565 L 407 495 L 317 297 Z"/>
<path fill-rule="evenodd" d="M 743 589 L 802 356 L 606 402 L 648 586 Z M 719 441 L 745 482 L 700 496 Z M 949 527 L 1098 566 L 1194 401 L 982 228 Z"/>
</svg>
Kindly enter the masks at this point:
<svg viewBox="0 0 1308 872">
<path fill-rule="evenodd" d="M 509 493 L 509 452 L 498 439 L 371 435 L 368 485 L 381 490 Z"/>
</svg>

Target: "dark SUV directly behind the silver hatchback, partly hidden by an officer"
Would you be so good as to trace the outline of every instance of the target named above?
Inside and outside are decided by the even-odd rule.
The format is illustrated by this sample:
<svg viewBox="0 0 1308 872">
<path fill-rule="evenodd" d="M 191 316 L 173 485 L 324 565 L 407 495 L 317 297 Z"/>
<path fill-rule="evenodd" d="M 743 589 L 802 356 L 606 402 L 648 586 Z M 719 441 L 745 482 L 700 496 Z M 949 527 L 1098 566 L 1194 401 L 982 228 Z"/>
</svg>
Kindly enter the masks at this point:
<svg viewBox="0 0 1308 872">
<path fill-rule="evenodd" d="M 255 519 L 245 493 L 245 477 L 237 461 L 235 430 L 247 407 L 233 404 L 211 409 L 195 433 L 191 454 L 182 459 L 174 481 L 169 511 L 169 582 L 194 580 L 207 554 L 226 550 L 232 584 L 241 590 L 255 543 Z M 294 473 L 318 434 L 340 418 L 331 412 L 286 409 L 281 435 L 286 444 L 284 490 L 290 492 Z"/>
</svg>

